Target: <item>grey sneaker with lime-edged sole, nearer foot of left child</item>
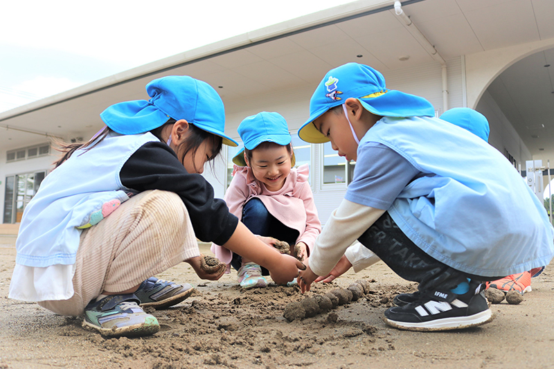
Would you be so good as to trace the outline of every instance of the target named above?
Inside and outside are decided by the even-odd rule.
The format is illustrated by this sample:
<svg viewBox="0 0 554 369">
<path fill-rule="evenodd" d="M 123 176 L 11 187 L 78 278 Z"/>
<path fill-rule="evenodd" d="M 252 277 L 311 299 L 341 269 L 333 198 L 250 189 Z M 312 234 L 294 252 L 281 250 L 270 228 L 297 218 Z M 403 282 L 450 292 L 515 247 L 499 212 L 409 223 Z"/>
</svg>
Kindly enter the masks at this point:
<svg viewBox="0 0 554 369">
<path fill-rule="evenodd" d="M 111 295 L 91 301 L 84 308 L 85 329 L 98 330 L 103 336 L 149 336 L 160 330 L 157 318 L 143 312 L 134 294 Z"/>
</svg>

